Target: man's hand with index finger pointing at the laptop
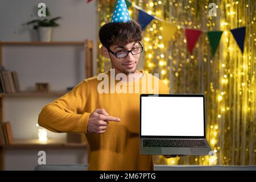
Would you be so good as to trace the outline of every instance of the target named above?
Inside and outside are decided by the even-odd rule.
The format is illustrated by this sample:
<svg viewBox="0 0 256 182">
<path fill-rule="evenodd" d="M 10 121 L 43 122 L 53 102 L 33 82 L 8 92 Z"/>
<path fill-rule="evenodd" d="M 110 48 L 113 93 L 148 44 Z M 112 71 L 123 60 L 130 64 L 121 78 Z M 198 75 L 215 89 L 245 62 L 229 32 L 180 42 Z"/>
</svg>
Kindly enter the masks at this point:
<svg viewBox="0 0 256 182">
<path fill-rule="evenodd" d="M 105 133 L 109 121 L 119 122 L 117 117 L 110 116 L 105 109 L 96 109 L 90 114 L 87 131 L 88 133 Z"/>
</svg>

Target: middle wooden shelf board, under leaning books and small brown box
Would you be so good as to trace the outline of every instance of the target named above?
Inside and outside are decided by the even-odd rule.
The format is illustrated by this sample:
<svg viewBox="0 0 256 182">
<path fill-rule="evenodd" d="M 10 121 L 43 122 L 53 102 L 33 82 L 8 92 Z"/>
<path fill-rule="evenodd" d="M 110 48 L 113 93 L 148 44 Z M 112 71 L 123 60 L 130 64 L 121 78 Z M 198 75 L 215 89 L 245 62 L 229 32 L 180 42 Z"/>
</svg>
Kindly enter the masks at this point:
<svg viewBox="0 0 256 182">
<path fill-rule="evenodd" d="M 41 96 L 63 96 L 68 93 L 68 91 L 49 91 L 49 92 L 17 92 L 17 93 L 1 93 L 0 97 L 41 97 Z"/>
</svg>

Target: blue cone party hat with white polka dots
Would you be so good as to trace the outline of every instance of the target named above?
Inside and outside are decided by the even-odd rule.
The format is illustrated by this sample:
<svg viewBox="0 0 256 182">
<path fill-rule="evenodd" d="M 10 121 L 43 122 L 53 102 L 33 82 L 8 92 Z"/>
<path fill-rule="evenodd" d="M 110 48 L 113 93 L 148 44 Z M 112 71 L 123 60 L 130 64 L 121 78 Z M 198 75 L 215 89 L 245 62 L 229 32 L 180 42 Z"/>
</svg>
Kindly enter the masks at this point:
<svg viewBox="0 0 256 182">
<path fill-rule="evenodd" d="M 130 20 L 131 18 L 127 10 L 125 0 L 118 0 L 117 3 L 115 3 L 115 9 L 112 15 L 111 23 L 128 22 Z"/>
</svg>

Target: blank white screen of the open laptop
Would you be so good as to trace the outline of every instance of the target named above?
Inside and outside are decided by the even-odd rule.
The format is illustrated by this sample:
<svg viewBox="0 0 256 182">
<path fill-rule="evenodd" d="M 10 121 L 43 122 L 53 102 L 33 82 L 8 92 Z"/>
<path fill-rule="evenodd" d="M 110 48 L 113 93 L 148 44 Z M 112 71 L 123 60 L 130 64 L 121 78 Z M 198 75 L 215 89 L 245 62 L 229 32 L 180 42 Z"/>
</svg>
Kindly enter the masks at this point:
<svg viewBox="0 0 256 182">
<path fill-rule="evenodd" d="M 141 135 L 203 137 L 203 97 L 142 97 Z"/>
</svg>

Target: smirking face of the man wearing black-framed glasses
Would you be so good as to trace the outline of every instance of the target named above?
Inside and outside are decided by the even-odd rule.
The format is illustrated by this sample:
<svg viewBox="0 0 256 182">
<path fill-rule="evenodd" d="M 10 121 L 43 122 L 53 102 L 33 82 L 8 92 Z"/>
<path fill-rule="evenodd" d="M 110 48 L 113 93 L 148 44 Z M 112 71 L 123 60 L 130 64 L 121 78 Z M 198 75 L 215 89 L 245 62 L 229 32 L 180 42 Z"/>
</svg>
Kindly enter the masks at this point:
<svg viewBox="0 0 256 182">
<path fill-rule="evenodd" d="M 121 51 L 130 51 L 131 49 L 138 48 L 141 45 L 138 42 L 132 42 L 126 44 L 126 46 L 115 46 L 112 45 L 109 49 L 115 53 Z M 139 61 L 139 55 L 132 55 L 131 52 L 125 58 L 117 58 L 111 52 L 108 52 L 109 58 L 112 63 L 112 67 L 115 69 L 116 73 L 125 73 L 128 75 L 129 73 L 135 73 L 136 67 Z"/>
</svg>

